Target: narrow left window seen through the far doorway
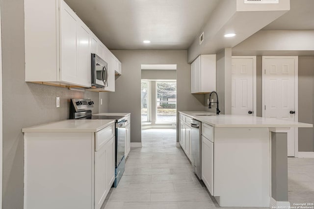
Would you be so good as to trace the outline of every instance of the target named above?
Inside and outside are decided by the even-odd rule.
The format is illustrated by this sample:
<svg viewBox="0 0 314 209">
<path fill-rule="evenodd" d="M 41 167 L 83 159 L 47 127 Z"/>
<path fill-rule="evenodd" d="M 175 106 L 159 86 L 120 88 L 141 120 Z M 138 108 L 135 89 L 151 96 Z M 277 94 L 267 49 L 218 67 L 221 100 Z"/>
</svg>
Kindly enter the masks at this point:
<svg viewBox="0 0 314 209">
<path fill-rule="evenodd" d="M 149 81 L 141 81 L 141 121 L 149 122 Z"/>
</svg>

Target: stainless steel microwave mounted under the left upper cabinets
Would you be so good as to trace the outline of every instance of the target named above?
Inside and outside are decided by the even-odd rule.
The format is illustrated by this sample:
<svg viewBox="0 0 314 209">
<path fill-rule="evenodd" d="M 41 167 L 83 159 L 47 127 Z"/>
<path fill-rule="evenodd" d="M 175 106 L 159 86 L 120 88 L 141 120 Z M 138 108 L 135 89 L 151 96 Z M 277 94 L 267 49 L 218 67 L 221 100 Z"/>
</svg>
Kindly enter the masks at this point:
<svg viewBox="0 0 314 209">
<path fill-rule="evenodd" d="M 108 87 L 108 64 L 97 54 L 92 53 L 92 86 Z"/>
</svg>

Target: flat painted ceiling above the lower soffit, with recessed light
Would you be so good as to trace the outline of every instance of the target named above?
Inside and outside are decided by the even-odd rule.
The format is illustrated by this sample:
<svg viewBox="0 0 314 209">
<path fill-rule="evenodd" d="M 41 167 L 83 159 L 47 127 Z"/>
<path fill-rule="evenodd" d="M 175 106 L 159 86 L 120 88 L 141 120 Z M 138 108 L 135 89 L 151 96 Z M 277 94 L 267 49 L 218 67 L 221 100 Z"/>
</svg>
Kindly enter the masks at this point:
<svg viewBox="0 0 314 209">
<path fill-rule="evenodd" d="M 127 50 L 186 50 L 219 4 L 219 0 L 65 1 L 105 46 Z M 263 30 L 314 30 L 313 8 L 314 0 L 290 0 L 290 11 Z"/>
</svg>

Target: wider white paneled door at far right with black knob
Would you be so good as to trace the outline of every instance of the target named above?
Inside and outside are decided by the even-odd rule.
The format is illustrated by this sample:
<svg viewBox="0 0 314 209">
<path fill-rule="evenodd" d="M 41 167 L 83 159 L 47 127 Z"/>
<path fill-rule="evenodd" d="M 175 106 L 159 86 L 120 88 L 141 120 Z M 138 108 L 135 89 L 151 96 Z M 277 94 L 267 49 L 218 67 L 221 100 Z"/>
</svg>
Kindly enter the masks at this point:
<svg viewBox="0 0 314 209">
<path fill-rule="evenodd" d="M 297 57 L 263 57 L 263 116 L 298 121 Z M 297 129 L 288 132 L 288 157 L 297 152 Z"/>
</svg>

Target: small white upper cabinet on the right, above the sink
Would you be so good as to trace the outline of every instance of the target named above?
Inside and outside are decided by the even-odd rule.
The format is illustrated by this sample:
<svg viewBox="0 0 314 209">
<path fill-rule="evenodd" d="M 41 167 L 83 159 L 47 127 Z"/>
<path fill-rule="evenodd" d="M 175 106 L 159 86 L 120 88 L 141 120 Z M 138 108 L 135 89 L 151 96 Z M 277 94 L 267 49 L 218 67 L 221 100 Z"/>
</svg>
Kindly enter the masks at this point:
<svg viewBox="0 0 314 209">
<path fill-rule="evenodd" d="M 191 63 L 191 93 L 216 91 L 216 55 L 203 54 Z"/>
</svg>

